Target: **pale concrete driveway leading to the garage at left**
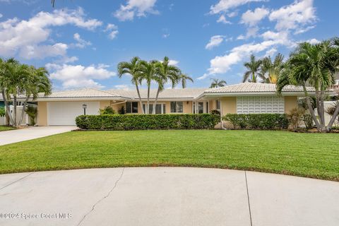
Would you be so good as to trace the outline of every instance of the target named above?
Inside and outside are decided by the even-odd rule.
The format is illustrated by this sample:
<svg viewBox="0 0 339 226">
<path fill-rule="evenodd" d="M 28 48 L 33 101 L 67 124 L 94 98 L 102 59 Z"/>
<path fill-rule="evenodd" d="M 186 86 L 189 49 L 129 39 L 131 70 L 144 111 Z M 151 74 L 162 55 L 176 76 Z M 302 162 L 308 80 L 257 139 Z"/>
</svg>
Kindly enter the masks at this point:
<svg viewBox="0 0 339 226">
<path fill-rule="evenodd" d="M 0 145 L 28 141 L 44 136 L 65 133 L 76 129 L 76 126 L 34 126 L 25 129 L 16 129 L 0 132 Z"/>
</svg>

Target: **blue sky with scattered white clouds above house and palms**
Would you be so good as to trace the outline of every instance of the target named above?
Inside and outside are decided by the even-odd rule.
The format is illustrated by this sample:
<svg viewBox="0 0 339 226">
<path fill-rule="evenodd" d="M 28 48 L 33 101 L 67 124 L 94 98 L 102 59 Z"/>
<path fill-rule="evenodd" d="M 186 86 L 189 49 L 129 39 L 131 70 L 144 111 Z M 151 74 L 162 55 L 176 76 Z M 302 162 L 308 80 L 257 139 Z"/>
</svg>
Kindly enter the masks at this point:
<svg viewBox="0 0 339 226">
<path fill-rule="evenodd" d="M 336 0 L 0 0 L 0 57 L 46 66 L 54 90 L 133 88 L 119 61 L 172 59 L 208 87 L 242 81 L 250 54 L 288 56 L 338 35 Z"/>
</svg>

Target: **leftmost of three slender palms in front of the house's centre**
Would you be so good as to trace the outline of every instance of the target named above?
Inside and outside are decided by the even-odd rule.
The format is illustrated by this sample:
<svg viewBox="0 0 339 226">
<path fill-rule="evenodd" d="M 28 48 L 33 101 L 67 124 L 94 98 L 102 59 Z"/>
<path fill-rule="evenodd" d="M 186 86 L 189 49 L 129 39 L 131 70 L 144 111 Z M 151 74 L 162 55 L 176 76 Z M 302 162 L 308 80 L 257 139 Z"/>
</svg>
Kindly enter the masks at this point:
<svg viewBox="0 0 339 226">
<path fill-rule="evenodd" d="M 136 92 L 138 93 L 139 104 L 143 111 L 143 102 L 141 101 L 141 95 L 139 85 L 141 85 L 141 60 L 138 57 L 133 57 L 129 62 L 120 62 L 118 64 L 118 76 L 121 78 L 124 74 L 132 76 L 131 83 L 136 85 Z M 145 112 L 143 111 L 143 114 Z"/>
</svg>

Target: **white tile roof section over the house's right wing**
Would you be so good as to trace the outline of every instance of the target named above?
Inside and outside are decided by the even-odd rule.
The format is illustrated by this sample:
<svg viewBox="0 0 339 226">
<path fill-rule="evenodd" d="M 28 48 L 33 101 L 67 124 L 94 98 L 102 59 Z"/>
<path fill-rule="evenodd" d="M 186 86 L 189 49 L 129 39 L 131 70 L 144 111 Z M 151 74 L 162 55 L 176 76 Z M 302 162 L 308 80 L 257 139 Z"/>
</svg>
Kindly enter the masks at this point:
<svg viewBox="0 0 339 226">
<path fill-rule="evenodd" d="M 314 91 L 314 88 L 308 87 L 308 91 Z M 270 83 L 239 83 L 235 85 L 226 85 L 221 88 L 206 90 L 205 93 L 270 93 L 276 92 L 276 85 Z M 283 88 L 285 92 L 304 92 L 302 86 L 286 85 Z"/>
</svg>

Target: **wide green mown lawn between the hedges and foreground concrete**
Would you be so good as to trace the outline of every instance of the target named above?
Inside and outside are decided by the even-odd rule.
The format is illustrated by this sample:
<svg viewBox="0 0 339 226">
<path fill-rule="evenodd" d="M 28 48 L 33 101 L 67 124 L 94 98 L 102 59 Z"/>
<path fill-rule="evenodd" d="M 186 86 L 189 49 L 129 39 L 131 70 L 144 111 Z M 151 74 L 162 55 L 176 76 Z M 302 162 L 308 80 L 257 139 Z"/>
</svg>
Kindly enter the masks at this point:
<svg viewBox="0 0 339 226">
<path fill-rule="evenodd" d="M 78 131 L 0 146 L 0 173 L 189 166 L 339 181 L 338 141 L 338 133 L 287 131 Z"/>
</svg>

